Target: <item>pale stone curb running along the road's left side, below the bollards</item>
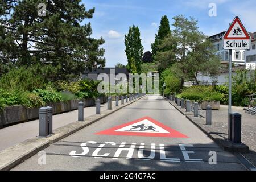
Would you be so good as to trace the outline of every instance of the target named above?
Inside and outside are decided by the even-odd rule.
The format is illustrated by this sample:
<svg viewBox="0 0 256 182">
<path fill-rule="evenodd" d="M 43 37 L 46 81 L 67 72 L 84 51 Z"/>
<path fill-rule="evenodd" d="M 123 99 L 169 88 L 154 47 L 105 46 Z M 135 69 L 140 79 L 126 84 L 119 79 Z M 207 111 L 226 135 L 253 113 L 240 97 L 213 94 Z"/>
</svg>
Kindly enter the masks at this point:
<svg viewBox="0 0 256 182">
<path fill-rule="evenodd" d="M 127 103 L 125 105 L 114 107 L 114 109 L 112 110 L 104 110 L 101 112 L 101 114 L 91 115 L 85 118 L 85 121 L 75 121 L 63 127 L 59 127 L 58 129 L 54 130 L 54 135 L 51 135 L 50 137 L 35 137 L 32 139 L 27 139 L 24 142 L 15 144 L 14 146 L 8 147 L 5 150 L 0 151 L 0 171 L 7 171 L 11 168 L 14 168 L 18 164 L 24 162 L 24 160 L 37 154 L 44 148 L 47 148 L 50 144 L 55 143 L 65 137 L 68 137 L 69 135 L 76 133 L 81 129 L 84 129 L 86 126 L 92 125 L 100 119 L 105 118 L 112 113 L 115 113 L 115 111 L 118 111 L 123 107 L 126 107 L 134 103 L 135 101 L 142 99 L 145 96 L 147 95 L 145 94 L 144 96 L 130 101 L 130 103 Z"/>
</svg>

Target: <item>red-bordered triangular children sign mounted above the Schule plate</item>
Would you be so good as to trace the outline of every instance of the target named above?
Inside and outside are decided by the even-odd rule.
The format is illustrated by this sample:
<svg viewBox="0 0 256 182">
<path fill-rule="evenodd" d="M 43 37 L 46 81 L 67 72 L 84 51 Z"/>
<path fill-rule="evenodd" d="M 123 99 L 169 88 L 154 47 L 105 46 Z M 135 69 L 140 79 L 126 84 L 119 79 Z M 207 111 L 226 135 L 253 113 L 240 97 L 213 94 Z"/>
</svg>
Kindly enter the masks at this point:
<svg viewBox="0 0 256 182">
<path fill-rule="evenodd" d="M 250 35 L 245 30 L 241 20 L 236 16 L 225 32 L 223 39 L 250 39 Z"/>
</svg>

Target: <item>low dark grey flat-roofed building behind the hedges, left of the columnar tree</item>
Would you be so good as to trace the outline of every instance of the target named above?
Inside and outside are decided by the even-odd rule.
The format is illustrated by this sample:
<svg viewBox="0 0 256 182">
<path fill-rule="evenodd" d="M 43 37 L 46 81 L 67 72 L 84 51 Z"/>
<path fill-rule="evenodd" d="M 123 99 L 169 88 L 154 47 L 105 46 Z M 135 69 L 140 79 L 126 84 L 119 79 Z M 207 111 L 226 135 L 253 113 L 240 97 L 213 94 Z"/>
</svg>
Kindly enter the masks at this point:
<svg viewBox="0 0 256 182">
<path fill-rule="evenodd" d="M 115 76 L 119 73 L 124 73 L 127 78 L 130 73 L 127 68 L 93 68 L 92 71 L 90 71 L 89 69 L 85 69 L 84 74 L 82 74 L 82 78 L 97 80 L 99 74 L 106 73 L 109 76 L 110 81 L 110 71 L 112 73 L 114 72 Z"/>
</svg>

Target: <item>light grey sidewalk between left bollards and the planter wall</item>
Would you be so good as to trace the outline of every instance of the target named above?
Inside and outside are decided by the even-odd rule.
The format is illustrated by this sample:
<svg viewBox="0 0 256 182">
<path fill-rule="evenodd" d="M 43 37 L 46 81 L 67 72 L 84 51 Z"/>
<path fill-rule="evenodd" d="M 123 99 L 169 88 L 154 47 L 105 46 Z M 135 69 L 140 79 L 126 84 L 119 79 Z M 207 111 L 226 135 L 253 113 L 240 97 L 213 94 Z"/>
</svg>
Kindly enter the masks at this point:
<svg viewBox="0 0 256 182">
<path fill-rule="evenodd" d="M 121 100 L 119 100 L 121 105 Z M 112 101 L 112 107 L 115 107 L 115 101 Z M 101 111 L 107 110 L 107 103 L 101 104 Z M 96 114 L 96 106 L 85 107 L 84 117 Z M 67 113 L 53 115 L 53 132 L 55 129 L 68 125 L 74 121 L 77 121 L 77 110 L 73 110 Z M 0 151 L 7 147 L 13 146 L 16 143 L 23 142 L 24 140 L 36 137 L 39 131 L 38 119 L 20 123 L 17 125 L 5 127 L 0 129 Z"/>
</svg>

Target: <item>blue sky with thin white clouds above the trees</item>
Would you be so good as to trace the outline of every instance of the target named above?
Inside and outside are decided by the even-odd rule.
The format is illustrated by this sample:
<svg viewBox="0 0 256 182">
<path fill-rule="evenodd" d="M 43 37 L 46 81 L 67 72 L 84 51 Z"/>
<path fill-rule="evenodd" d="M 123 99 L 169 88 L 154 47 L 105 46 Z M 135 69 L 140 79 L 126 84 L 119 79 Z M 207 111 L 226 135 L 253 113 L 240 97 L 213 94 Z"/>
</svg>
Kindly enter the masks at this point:
<svg viewBox="0 0 256 182">
<path fill-rule="evenodd" d="M 179 14 L 187 18 L 192 16 L 198 20 L 199 30 L 206 35 L 225 31 L 235 16 L 239 16 L 247 31 L 256 31 L 255 0 L 83 0 L 86 9 L 92 7 L 96 11 L 92 19 L 82 23 L 92 24 L 95 38 L 104 38 L 106 67 L 114 67 L 118 62 L 127 64 L 124 35 L 129 26 L 138 26 L 144 52 L 151 51 L 160 19 L 167 15 L 170 25 L 172 17 Z M 209 3 L 216 3 L 217 16 L 210 17 Z M 171 26 L 171 30 L 174 27 Z"/>
</svg>

